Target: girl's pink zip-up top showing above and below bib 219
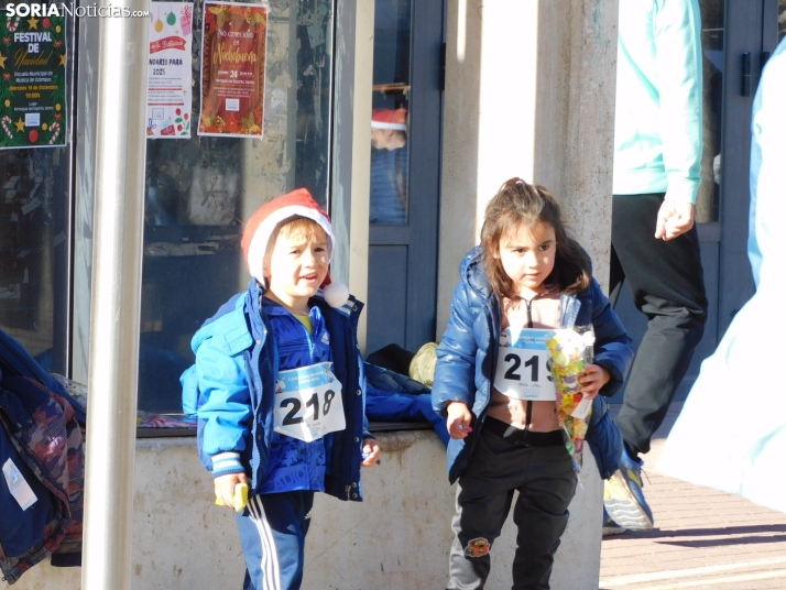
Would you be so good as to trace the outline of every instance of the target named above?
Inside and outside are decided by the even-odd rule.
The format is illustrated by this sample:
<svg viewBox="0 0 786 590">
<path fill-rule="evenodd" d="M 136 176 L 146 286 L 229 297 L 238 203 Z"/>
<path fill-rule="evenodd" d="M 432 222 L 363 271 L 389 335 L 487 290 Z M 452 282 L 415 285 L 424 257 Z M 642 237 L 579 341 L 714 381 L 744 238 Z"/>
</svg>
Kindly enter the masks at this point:
<svg viewBox="0 0 786 590">
<path fill-rule="evenodd" d="M 502 314 L 503 330 L 511 328 L 511 331 L 516 331 L 521 328 L 526 328 L 527 315 L 524 302 L 511 303 L 510 299 L 504 299 L 502 305 L 504 309 Z M 543 286 L 539 295 L 532 299 L 531 314 L 533 328 L 559 327 L 559 288 L 556 285 Z M 507 397 L 496 389 L 493 389 L 488 415 L 523 429 L 527 424 L 527 402 Z M 532 402 L 532 416 L 530 416 L 528 422 L 530 430 L 535 433 L 558 430 L 559 420 L 557 419 L 556 403 Z"/>
</svg>

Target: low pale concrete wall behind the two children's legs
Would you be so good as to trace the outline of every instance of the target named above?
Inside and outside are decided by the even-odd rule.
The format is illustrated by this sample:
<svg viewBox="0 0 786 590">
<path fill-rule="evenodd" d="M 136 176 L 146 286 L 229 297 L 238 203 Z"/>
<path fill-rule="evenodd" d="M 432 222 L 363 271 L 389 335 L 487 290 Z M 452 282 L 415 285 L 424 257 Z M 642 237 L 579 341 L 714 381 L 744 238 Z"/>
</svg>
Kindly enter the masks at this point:
<svg viewBox="0 0 786 590">
<path fill-rule="evenodd" d="M 363 472 L 365 501 L 317 494 L 306 547 L 304 590 L 441 588 L 452 539 L 455 488 L 445 447 L 429 430 L 381 434 L 381 465 Z M 134 590 L 239 589 L 244 566 L 233 513 L 212 504 L 193 438 L 138 442 L 133 522 Z M 601 480 L 591 454 L 557 553 L 554 590 L 598 588 Z M 487 588 L 510 588 L 515 526 L 492 549 Z M 14 590 L 77 590 L 80 568 L 39 564 Z M 0 588 L 7 584 L 0 582 Z"/>
</svg>

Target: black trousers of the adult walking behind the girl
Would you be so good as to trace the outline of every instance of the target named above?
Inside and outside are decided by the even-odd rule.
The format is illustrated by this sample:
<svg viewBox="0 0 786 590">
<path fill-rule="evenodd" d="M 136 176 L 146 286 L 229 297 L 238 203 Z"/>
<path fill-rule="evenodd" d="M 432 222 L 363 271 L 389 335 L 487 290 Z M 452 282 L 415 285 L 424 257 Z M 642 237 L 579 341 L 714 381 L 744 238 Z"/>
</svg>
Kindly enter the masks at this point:
<svg viewBox="0 0 786 590">
<path fill-rule="evenodd" d="M 627 280 L 633 303 L 649 320 L 614 419 L 633 455 L 649 450 L 707 320 L 696 228 L 674 240 L 655 239 L 663 197 L 614 195 L 611 220 L 609 298 L 615 304 Z"/>
</svg>

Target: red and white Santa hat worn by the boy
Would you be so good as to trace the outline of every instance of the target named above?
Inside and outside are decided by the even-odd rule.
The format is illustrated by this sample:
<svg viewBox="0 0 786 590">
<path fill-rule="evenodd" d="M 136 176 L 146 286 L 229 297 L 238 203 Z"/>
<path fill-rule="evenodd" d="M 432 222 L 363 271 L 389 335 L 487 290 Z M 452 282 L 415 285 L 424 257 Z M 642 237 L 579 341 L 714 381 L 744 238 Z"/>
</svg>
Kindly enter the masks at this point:
<svg viewBox="0 0 786 590">
<path fill-rule="evenodd" d="M 270 243 L 270 239 L 276 226 L 292 217 L 304 217 L 319 225 L 325 230 L 328 241 L 328 262 L 332 260 L 335 238 L 330 217 L 314 200 L 310 193 L 305 188 L 298 188 L 273 200 L 269 200 L 256 209 L 245 223 L 240 247 L 245 255 L 245 263 L 249 266 L 251 276 L 256 278 L 263 286 L 265 278 L 263 273 L 264 254 Z M 341 283 L 332 283 L 330 273 L 325 276 L 320 285 L 323 296 L 331 307 L 341 307 L 349 298 L 349 289 Z"/>
</svg>

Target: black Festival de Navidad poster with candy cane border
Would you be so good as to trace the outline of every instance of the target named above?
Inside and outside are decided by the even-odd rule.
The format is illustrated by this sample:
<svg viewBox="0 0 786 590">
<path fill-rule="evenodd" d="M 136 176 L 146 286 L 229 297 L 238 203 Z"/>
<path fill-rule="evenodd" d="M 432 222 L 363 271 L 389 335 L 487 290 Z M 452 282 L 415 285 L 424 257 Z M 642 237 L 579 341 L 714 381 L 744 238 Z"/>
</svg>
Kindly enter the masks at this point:
<svg viewBox="0 0 786 590">
<path fill-rule="evenodd" d="M 0 149 L 66 143 L 66 25 L 55 12 L 0 12 Z"/>
</svg>

